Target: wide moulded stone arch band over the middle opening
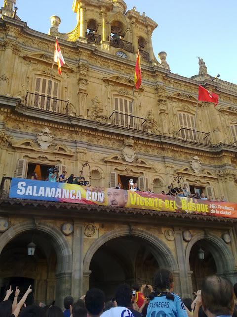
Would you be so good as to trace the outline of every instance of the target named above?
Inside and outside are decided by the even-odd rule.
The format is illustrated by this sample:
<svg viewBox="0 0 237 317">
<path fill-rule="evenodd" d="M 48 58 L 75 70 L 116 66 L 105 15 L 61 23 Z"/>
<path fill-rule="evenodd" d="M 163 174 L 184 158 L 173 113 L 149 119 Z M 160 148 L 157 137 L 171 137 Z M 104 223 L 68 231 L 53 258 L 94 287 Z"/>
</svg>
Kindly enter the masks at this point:
<svg viewBox="0 0 237 317">
<path fill-rule="evenodd" d="M 109 231 L 103 234 L 98 239 L 96 239 L 96 241 L 90 246 L 90 248 L 88 249 L 84 257 L 84 261 L 83 261 L 84 272 L 89 271 L 90 262 L 92 260 L 93 255 L 104 243 L 106 243 L 107 241 L 111 239 L 115 239 L 115 238 L 123 237 L 123 236 L 135 236 L 135 237 L 143 238 L 150 244 L 151 249 L 154 252 L 154 256 L 158 260 L 158 263 L 160 264 L 160 266 L 170 268 L 172 271 L 178 270 L 178 264 L 174 256 L 172 255 L 171 250 L 158 237 L 154 236 L 153 234 L 147 231 L 143 231 L 139 229 L 132 229 L 131 231 L 131 229 L 129 228 L 123 228 L 123 229 L 115 229 L 113 231 Z"/>
</svg>

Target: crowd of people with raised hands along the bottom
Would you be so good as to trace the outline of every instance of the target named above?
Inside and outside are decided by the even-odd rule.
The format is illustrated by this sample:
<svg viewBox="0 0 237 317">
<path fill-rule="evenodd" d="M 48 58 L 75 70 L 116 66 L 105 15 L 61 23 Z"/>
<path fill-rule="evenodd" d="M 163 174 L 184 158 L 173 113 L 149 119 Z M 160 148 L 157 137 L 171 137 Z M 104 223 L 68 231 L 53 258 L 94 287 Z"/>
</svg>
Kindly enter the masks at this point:
<svg viewBox="0 0 237 317">
<path fill-rule="evenodd" d="M 121 284 L 114 298 L 106 301 L 104 292 L 92 288 L 80 299 L 72 296 L 64 299 L 64 308 L 43 303 L 25 305 L 31 293 L 29 286 L 18 301 L 20 290 L 16 287 L 14 301 L 8 298 L 11 287 L 0 302 L 0 317 L 237 317 L 235 300 L 237 284 L 234 286 L 224 277 L 212 275 L 204 279 L 201 290 L 194 293 L 195 299 L 181 299 L 173 292 L 172 273 L 159 269 L 154 285 Z"/>
</svg>

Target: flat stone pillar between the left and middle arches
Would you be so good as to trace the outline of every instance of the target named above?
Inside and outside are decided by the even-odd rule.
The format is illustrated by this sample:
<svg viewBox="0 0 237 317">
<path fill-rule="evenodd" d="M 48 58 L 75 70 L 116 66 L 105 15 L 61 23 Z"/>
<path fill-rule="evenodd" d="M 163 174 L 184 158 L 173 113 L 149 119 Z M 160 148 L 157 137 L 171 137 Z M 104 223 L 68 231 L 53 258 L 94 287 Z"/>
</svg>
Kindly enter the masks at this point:
<svg viewBox="0 0 237 317">
<path fill-rule="evenodd" d="M 74 222 L 73 233 L 73 268 L 72 268 L 72 292 L 71 295 L 76 300 L 82 296 L 83 282 L 83 223 Z"/>
</svg>

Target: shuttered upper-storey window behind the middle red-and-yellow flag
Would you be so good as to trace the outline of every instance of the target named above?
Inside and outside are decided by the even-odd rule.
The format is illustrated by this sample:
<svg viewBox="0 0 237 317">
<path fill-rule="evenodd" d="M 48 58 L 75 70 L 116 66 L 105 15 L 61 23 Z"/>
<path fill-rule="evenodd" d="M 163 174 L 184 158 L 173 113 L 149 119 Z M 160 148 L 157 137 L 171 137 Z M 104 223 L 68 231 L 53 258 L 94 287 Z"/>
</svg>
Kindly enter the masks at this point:
<svg viewBox="0 0 237 317">
<path fill-rule="evenodd" d="M 132 102 L 130 100 L 116 97 L 115 98 L 115 124 L 119 126 L 133 128 L 133 111 Z"/>
</svg>

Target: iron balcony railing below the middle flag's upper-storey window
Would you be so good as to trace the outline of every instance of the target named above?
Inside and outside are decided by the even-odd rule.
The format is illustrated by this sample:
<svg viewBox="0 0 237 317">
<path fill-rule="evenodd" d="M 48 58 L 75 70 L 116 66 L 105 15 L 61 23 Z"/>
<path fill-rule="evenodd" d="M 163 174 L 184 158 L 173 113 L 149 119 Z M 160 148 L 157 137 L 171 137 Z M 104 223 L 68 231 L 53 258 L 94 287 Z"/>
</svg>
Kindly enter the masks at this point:
<svg viewBox="0 0 237 317">
<path fill-rule="evenodd" d="M 113 125 L 147 132 L 147 126 L 145 124 L 147 119 L 118 111 L 114 111 L 109 119 Z"/>
</svg>

